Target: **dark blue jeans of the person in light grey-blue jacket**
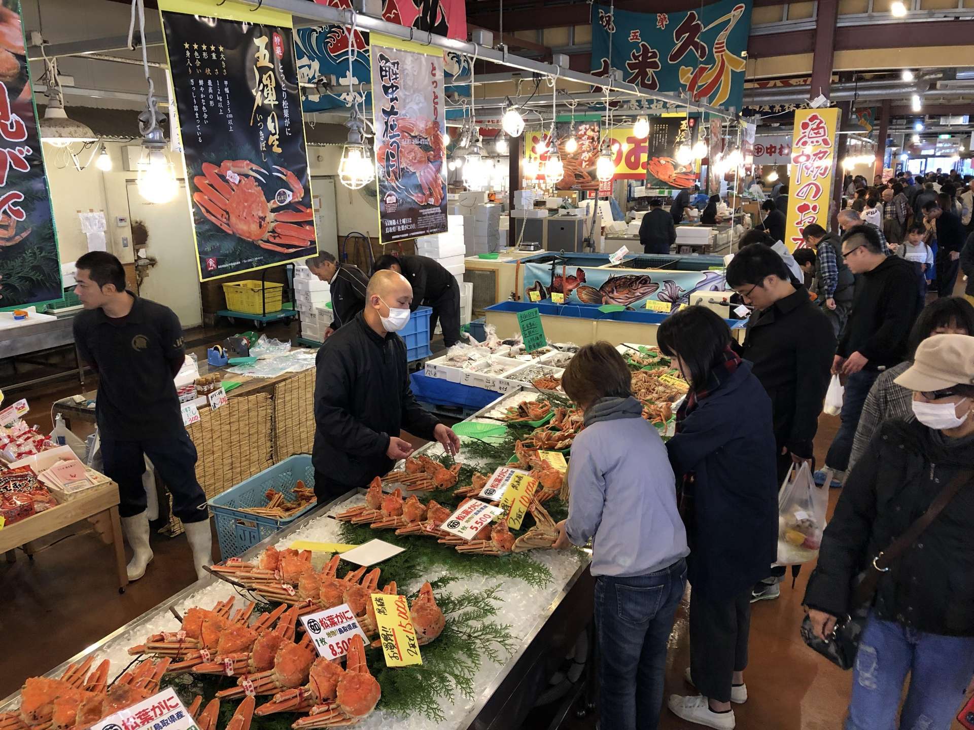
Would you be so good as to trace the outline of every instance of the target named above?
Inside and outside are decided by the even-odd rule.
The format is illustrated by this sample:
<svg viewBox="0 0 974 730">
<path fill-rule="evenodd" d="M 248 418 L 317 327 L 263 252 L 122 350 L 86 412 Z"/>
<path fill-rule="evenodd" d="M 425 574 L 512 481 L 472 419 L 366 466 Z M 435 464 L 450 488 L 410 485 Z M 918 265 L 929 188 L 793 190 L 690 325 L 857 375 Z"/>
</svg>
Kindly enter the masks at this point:
<svg viewBox="0 0 974 730">
<path fill-rule="evenodd" d="M 682 558 L 647 575 L 595 579 L 600 724 L 606 730 L 656 730 L 666 646 L 686 583 Z"/>
</svg>

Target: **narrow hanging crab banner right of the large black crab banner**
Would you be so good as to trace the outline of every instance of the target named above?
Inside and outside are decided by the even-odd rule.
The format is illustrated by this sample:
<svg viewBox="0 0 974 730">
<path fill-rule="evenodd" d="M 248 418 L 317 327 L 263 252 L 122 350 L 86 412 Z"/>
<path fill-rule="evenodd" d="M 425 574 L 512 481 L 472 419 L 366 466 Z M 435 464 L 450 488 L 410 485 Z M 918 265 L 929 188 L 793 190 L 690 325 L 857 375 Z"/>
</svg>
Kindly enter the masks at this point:
<svg viewBox="0 0 974 730">
<path fill-rule="evenodd" d="M 443 56 L 376 33 L 371 40 L 380 240 L 445 233 Z"/>
</svg>

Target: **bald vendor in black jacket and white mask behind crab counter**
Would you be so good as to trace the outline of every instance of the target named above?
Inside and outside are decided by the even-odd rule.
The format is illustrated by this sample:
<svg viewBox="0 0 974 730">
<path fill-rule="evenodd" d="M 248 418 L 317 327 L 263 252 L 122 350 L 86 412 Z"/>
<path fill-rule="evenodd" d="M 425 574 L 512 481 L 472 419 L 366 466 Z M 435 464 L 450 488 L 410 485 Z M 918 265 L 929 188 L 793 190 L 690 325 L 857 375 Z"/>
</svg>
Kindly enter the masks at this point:
<svg viewBox="0 0 974 730">
<path fill-rule="evenodd" d="M 315 381 L 315 494 L 318 503 L 366 487 L 413 452 L 399 429 L 450 454 L 460 439 L 413 397 L 406 345 L 395 333 L 409 321 L 412 287 L 400 274 L 376 272 L 365 309 L 318 350 Z"/>
</svg>

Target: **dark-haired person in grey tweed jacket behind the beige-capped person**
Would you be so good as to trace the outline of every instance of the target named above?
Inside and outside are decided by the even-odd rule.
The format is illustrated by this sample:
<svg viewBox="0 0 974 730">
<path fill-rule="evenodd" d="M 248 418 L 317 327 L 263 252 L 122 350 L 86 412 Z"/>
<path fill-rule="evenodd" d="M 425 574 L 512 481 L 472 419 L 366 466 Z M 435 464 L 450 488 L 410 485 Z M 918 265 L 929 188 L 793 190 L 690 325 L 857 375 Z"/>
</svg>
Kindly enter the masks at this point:
<svg viewBox="0 0 974 730">
<path fill-rule="evenodd" d="M 936 299 L 920 310 L 917 321 L 910 331 L 909 351 L 917 351 L 921 342 L 931 335 L 974 335 L 974 307 L 960 297 Z M 849 470 L 866 452 L 873 434 L 883 420 L 914 420 L 913 391 L 896 384 L 896 379 L 913 364 L 911 359 L 894 365 L 880 373 L 869 389 L 862 415 L 855 429 Z"/>
</svg>

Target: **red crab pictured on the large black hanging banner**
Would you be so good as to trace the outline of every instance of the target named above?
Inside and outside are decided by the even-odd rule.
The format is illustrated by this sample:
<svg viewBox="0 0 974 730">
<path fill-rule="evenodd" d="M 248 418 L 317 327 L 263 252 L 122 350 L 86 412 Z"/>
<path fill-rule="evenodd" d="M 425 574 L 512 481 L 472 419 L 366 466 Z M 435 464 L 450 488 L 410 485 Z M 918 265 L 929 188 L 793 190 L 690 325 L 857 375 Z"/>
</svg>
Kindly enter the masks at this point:
<svg viewBox="0 0 974 730">
<path fill-rule="evenodd" d="M 193 178 L 199 190 L 193 194 L 193 201 L 217 228 L 261 248 L 281 253 L 307 248 L 315 240 L 314 224 L 295 225 L 314 220 L 311 208 L 296 202 L 304 200 L 304 186 L 290 170 L 278 165 L 274 168 L 278 170 L 274 175 L 287 183 L 290 192 L 278 191 L 275 199 L 268 201 L 254 182 L 254 178 L 265 182 L 258 174 L 267 174 L 263 167 L 247 160 L 224 160 L 219 166 L 204 163 L 203 174 Z M 288 204 L 296 209 L 273 212 Z"/>
</svg>

